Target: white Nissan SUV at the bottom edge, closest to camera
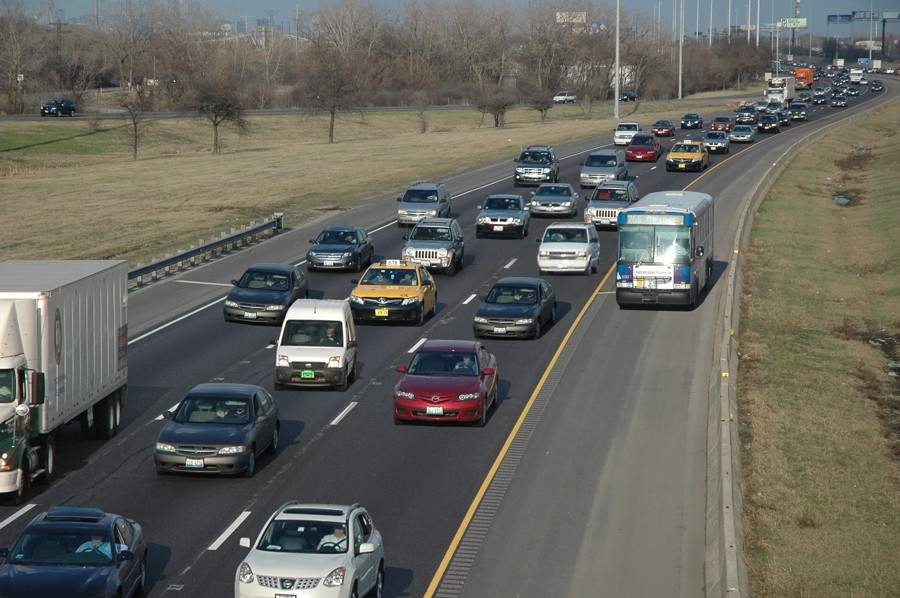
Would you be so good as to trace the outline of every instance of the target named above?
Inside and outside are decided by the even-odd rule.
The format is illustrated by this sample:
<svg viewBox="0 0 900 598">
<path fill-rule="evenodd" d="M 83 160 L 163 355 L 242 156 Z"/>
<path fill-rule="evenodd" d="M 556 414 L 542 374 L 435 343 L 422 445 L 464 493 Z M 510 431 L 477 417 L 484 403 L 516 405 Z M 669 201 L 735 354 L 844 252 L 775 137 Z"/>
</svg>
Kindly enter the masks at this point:
<svg viewBox="0 0 900 598">
<path fill-rule="evenodd" d="M 384 545 L 368 511 L 291 501 L 269 517 L 238 567 L 235 598 L 349 598 L 384 590 Z M 301 591 L 302 590 L 302 591 Z"/>
</svg>

